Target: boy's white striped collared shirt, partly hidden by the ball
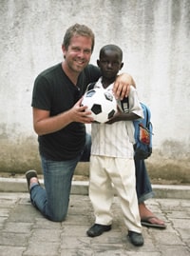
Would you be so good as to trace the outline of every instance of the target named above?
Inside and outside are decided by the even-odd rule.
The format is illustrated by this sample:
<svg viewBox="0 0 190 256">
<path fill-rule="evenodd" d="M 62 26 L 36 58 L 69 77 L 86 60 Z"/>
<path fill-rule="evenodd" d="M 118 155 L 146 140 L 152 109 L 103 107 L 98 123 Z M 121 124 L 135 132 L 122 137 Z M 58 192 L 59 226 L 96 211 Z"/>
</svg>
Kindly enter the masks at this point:
<svg viewBox="0 0 190 256">
<path fill-rule="evenodd" d="M 102 78 L 94 88 L 103 88 Z M 112 91 L 113 84 L 104 90 Z M 137 90 L 133 87 L 129 92 L 129 112 L 143 117 L 142 107 L 138 100 Z M 120 105 L 120 101 L 118 102 Z M 93 123 L 91 127 L 92 155 L 133 158 L 134 126 L 132 121 L 120 121 L 114 124 Z"/>
</svg>

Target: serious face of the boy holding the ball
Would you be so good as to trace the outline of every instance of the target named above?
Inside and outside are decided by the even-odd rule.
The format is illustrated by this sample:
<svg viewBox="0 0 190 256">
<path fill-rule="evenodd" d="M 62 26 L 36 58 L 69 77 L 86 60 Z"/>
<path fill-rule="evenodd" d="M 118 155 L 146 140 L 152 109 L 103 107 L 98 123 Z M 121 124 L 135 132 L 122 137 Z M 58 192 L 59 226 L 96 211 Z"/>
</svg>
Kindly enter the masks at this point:
<svg viewBox="0 0 190 256">
<path fill-rule="evenodd" d="M 106 49 L 97 64 L 104 78 L 115 78 L 119 70 L 123 68 L 121 56 L 116 50 Z"/>
</svg>

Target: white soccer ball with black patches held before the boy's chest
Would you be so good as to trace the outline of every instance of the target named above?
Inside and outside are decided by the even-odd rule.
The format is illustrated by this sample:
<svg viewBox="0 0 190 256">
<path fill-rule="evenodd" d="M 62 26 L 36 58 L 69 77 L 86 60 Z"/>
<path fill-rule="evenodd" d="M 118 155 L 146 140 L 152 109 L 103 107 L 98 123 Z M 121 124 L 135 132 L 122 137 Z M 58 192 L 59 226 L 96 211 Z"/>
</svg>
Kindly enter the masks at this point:
<svg viewBox="0 0 190 256">
<path fill-rule="evenodd" d="M 85 92 L 82 102 L 90 110 L 91 117 L 99 123 L 107 122 L 117 111 L 117 103 L 111 91 L 95 88 Z"/>
</svg>

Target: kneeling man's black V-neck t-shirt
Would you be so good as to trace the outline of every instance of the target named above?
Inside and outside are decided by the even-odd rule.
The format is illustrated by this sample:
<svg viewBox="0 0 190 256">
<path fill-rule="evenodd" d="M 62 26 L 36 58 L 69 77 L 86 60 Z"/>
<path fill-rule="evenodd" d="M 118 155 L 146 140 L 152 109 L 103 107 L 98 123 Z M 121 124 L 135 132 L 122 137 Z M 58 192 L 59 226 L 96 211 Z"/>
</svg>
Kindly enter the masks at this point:
<svg viewBox="0 0 190 256">
<path fill-rule="evenodd" d="M 80 74 L 77 86 L 66 76 L 61 63 L 40 73 L 32 94 L 33 108 L 45 109 L 50 116 L 62 113 L 79 100 L 87 85 L 97 81 L 100 70 L 88 65 Z M 38 136 L 40 153 L 47 159 L 64 161 L 78 156 L 85 146 L 85 125 L 73 122 L 59 131 Z"/>
</svg>

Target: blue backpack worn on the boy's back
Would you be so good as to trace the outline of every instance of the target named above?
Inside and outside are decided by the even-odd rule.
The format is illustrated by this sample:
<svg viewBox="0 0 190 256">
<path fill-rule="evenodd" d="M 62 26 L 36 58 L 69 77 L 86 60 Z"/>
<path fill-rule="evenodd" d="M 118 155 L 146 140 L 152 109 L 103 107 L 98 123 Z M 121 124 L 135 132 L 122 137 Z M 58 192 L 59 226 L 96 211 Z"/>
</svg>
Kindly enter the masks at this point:
<svg viewBox="0 0 190 256">
<path fill-rule="evenodd" d="M 152 135 L 153 127 L 150 122 L 150 109 L 141 103 L 143 110 L 143 119 L 133 121 L 135 127 L 135 160 L 148 158 L 152 154 Z"/>
</svg>

